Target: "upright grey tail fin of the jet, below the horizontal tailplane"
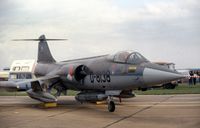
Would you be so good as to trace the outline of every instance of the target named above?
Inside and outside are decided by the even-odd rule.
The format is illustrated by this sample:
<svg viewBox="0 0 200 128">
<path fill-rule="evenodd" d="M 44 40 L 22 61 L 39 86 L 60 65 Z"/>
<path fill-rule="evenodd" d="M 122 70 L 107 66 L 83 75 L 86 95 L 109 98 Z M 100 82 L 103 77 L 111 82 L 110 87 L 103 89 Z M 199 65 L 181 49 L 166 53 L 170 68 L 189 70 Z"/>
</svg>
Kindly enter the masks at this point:
<svg viewBox="0 0 200 128">
<path fill-rule="evenodd" d="M 38 44 L 38 59 L 37 62 L 41 63 L 55 63 L 55 59 L 51 55 L 49 50 L 49 46 L 47 44 L 45 35 L 41 35 L 39 37 L 39 44 Z"/>
</svg>

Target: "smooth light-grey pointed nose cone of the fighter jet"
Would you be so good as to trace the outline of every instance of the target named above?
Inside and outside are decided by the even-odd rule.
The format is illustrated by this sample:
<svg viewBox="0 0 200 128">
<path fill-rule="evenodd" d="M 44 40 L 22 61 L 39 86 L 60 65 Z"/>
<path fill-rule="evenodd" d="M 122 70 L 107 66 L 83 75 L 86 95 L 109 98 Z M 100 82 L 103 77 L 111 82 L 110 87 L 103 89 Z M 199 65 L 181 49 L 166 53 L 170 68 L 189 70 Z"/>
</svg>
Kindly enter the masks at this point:
<svg viewBox="0 0 200 128">
<path fill-rule="evenodd" d="M 184 77 L 184 75 L 170 70 L 166 71 L 160 69 L 145 68 L 143 72 L 144 83 L 148 85 L 162 84 L 174 80 L 179 80 Z"/>
</svg>

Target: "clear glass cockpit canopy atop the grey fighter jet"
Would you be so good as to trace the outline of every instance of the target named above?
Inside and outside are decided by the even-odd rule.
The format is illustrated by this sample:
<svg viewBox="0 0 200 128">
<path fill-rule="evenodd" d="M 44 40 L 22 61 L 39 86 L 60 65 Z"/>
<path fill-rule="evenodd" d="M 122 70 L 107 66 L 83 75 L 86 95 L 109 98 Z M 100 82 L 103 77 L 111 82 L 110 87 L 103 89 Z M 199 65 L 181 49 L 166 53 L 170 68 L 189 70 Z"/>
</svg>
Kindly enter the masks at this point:
<svg viewBox="0 0 200 128">
<path fill-rule="evenodd" d="M 148 60 L 145 57 L 143 57 L 140 53 L 133 51 L 118 52 L 112 56 L 112 60 L 114 62 L 128 64 L 140 64 L 143 62 L 148 62 Z"/>
</svg>

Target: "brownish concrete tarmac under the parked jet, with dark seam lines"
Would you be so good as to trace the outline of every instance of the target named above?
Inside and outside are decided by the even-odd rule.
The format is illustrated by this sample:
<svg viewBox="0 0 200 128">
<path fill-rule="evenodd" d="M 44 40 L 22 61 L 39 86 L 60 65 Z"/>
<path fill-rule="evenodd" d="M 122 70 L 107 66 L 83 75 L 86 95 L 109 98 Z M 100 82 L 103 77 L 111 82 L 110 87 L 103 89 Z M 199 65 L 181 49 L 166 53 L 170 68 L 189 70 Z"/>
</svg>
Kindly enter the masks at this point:
<svg viewBox="0 0 200 128">
<path fill-rule="evenodd" d="M 72 96 L 60 97 L 55 108 L 27 96 L 1 96 L 0 128 L 200 127 L 200 94 L 138 95 L 116 104 L 110 113 L 106 104 L 80 104 Z"/>
</svg>

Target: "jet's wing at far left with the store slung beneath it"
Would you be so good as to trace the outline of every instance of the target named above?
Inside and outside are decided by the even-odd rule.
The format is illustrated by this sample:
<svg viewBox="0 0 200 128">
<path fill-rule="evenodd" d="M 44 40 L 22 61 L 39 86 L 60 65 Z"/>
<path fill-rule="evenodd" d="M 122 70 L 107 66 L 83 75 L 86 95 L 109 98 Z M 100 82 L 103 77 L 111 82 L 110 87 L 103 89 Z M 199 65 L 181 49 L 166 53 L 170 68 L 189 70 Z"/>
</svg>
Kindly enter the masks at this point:
<svg viewBox="0 0 200 128">
<path fill-rule="evenodd" d="M 2 83 L 0 82 L 0 88 L 12 91 L 24 90 L 33 99 L 42 102 L 56 102 L 57 98 L 49 93 L 48 88 L 51 85 L 57 84 L 59 82 L 60 82 L 60 77 L 57 75 L 44 76 L 36 79 L 23 80 L 20 82 L 11 82 L 11 81 L 5 81 Z"/>
</svg>

